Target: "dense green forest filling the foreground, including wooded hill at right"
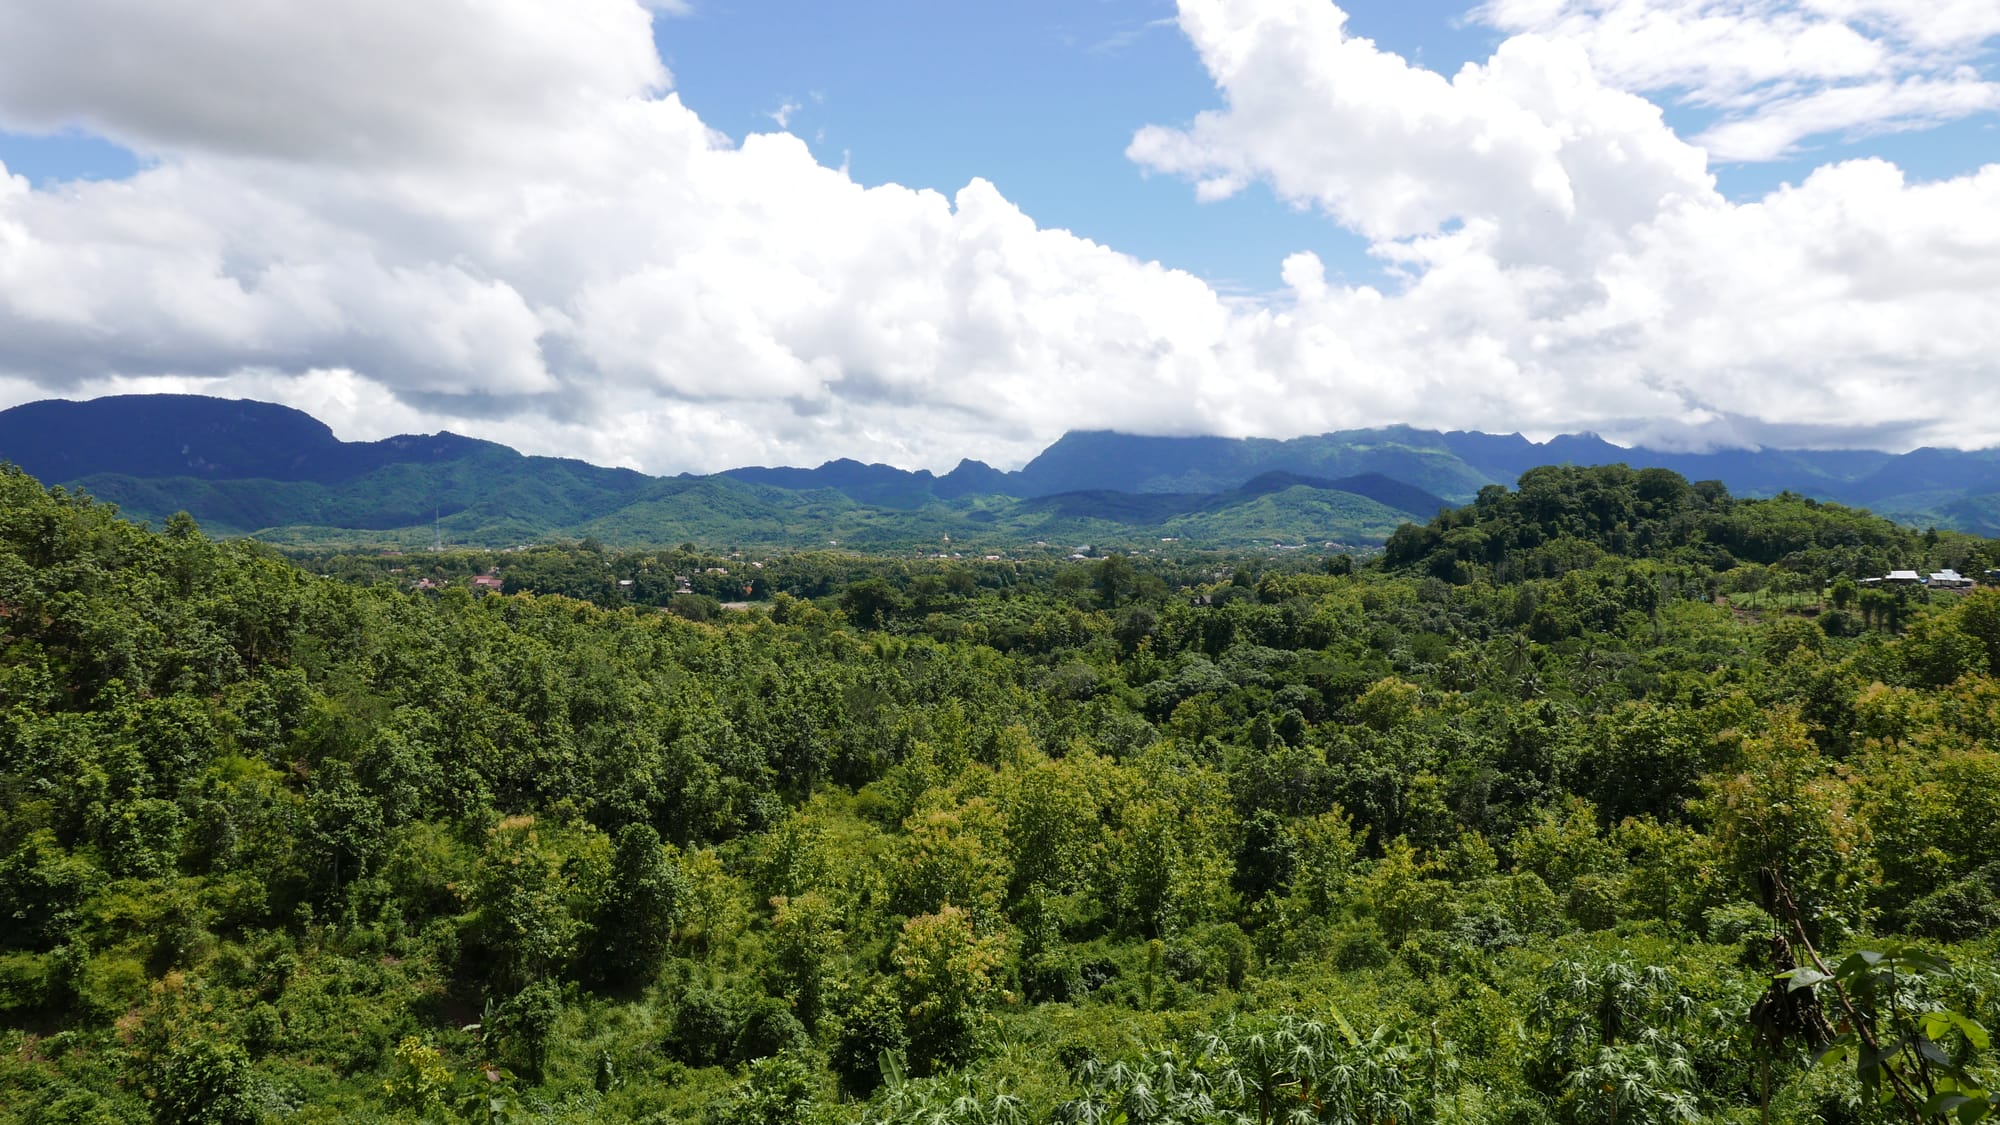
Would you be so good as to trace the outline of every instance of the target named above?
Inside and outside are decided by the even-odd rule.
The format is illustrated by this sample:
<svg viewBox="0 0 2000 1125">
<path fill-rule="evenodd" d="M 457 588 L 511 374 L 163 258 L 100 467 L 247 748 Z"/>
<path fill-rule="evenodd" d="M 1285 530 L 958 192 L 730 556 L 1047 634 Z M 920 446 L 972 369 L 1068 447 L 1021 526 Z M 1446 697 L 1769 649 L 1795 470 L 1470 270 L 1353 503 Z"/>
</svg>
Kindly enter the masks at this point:
<svg viewBox="0 0 2000 1125">
<path fill-rule="evenodd" d="M 2000 591 L 1858 579 L 1994 548 L 1612 466 L 746 579 L 0 470 L 0 1117 L 1974 1121 Z"/>
</svg>

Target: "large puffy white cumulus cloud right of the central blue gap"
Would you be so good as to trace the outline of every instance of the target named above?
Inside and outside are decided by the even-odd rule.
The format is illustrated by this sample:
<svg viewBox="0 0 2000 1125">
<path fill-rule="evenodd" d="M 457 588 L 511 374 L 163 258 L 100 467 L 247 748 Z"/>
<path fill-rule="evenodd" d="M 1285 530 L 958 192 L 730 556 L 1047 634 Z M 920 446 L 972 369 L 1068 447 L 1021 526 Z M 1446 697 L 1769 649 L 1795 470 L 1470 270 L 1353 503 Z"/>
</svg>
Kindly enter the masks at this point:
<svg viewBox="0 0 2000 1125">
<path fill-rule="evenodd" d="M 1226 106 L 1130 154 L 1198 192 L 1268 184 L 1410 268 L 1380 296 L 1294 262 L 1272 318 L 1314 348 L 1274 362 L 1398 380 L 1370 414 L 1992 440 L 1968 410 L 2000 404 L 1980 312 L 2000 308 L 2000 166 L 1912 184 L 1866 160 L 1730 204 L 1700 148 L 1564 40 L 1512 38 L 1446 80 L 1318 0 L 1180 12 Z"/>
</svg>

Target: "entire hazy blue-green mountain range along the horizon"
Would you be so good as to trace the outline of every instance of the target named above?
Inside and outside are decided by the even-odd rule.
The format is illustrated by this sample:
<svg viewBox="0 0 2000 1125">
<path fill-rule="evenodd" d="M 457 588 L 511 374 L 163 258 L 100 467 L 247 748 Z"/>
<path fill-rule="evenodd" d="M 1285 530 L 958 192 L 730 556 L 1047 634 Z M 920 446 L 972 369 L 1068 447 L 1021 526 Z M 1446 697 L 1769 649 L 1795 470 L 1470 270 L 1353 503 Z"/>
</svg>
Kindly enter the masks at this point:
<svg viewBox="0 0 2000 1125">
<path fill-rule="evenodd" d="M 978 460 L 944 474 L 830 460 L 648 476 L 450 432 L 344 442 L 270 402 L 128 394 L 0 410 L 0 458 L 132 518 L 186 510 L 216 534 L 296 546 L 552 536 L 872 548 L 1368 544 L 1558 462 L 1660 466 L 1736 494 L 1792 490 L 1904 522 L 2000 532 L 2000 450 L 1690 454 L 1594 434 L 1534 442 L 1410 426 L 1292 440 L 1080 430 L 1012 472 Z"/>
</svg>

